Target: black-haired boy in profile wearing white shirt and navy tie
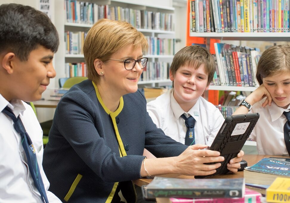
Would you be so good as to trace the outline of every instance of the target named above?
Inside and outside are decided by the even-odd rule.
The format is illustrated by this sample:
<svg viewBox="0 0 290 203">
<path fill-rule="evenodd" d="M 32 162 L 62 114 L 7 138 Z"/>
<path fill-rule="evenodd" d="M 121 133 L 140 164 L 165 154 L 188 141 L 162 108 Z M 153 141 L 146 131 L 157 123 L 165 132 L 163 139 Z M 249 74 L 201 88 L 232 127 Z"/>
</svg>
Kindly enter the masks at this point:
<svg viewBox="0 0 290 203">
<path fill-rule="evenodd" d="M 0 202 L 60 202 L 47 191 L 42 130 L 25 103 L 41 99 L 55 77 L 58 44 L 44 13 L 20 4 L 0 6 Z"/>
</svg>

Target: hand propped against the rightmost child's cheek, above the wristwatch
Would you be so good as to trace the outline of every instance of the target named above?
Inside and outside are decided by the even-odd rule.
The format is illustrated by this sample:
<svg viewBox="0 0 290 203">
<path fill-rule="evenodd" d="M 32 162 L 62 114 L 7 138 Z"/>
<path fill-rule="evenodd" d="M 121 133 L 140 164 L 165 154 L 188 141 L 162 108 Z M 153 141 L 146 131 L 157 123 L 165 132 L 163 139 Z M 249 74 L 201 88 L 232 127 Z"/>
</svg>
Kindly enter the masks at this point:
<svg viewBox="0 0 290 203">
<path fill-rule="evenodd" d="M 254 105 L 255 103 L 261 101 L 264 97 L 267 98 L 262 106 L 265 107 L 267 105 L 271 105 L 272 97 L 264 84 L 261 84 L 254 92 L 247 96 L 245 100 L 249 104 Z"/>
</svg>

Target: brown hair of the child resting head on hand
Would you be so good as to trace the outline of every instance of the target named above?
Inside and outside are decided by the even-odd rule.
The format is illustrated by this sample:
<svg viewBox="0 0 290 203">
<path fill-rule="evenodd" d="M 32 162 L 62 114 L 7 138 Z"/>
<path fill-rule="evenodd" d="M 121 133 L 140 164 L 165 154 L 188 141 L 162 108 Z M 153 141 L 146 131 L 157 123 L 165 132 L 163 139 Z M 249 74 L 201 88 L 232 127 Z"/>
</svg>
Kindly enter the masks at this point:
<svg viewBox="0 0 290 203">
<path fill-rule="evenodd" d="M 257 65 L 256 78 L 261 85 L 263 78 L 283 71 L 290 71 L 290 46 L 288 44 L 273 46 L 264 51 Z"/>
</svg>

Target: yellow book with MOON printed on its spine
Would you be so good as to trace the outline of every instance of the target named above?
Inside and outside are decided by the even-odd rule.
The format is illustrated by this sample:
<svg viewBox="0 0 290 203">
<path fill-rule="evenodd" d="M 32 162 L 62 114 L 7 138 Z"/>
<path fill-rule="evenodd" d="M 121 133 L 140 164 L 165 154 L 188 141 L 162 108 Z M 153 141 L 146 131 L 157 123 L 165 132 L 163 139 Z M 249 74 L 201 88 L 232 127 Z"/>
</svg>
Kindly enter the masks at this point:
<svg viewBox="0 0 290 203">
<path fill-rule="evenodd" d="M 266 190 L 266 201 L 290 203 L 290 179 L 277 177 Z"/>
</svg>

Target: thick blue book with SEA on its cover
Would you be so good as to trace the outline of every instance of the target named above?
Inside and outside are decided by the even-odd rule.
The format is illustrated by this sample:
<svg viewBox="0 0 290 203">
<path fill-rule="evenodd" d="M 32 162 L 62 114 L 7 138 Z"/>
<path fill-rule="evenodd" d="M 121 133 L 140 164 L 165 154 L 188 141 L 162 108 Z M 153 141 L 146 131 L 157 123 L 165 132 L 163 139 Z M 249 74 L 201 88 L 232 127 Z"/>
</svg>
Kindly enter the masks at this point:
<svg viewBox="0 0 290 203">
<path fill-rule="evenodd" d="M 246 184 L 271 185 L 277 177 L 290 178 L 290 163 L 264 158 L 244 170 Z"/>
</svg>

